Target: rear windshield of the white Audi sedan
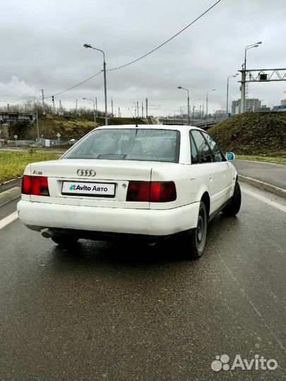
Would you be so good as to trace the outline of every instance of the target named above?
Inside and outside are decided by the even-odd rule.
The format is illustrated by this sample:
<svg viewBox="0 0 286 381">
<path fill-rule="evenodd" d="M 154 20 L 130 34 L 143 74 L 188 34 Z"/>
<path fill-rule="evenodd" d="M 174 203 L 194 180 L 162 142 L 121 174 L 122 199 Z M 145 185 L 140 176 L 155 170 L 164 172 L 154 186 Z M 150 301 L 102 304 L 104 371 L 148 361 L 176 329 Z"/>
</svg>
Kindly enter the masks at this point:
<svg viewBox="0 0 286 381">
<path fill-rule="evenodd" d="M 108 128 L 95 130 L 64 155 L 63 159 L 140 160 L 179 162 L 179 131 Z"/>
</svg>

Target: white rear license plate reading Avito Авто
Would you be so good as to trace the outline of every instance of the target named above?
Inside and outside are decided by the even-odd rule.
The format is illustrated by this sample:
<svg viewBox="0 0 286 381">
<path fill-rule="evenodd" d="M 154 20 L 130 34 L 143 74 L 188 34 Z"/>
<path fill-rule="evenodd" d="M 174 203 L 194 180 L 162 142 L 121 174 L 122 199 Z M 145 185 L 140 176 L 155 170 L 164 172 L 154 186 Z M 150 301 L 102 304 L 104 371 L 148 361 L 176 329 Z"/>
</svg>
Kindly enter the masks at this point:
<svg viewBox="0 0 286 381">
<path fill-rule="evenodd" d="M 114 183 L 82 183 L 63 181 L 61 188 L 62 195 L 88 195 L 88 196 L 104 196 L 112 198 L 115 195 Z"/>
</svg>

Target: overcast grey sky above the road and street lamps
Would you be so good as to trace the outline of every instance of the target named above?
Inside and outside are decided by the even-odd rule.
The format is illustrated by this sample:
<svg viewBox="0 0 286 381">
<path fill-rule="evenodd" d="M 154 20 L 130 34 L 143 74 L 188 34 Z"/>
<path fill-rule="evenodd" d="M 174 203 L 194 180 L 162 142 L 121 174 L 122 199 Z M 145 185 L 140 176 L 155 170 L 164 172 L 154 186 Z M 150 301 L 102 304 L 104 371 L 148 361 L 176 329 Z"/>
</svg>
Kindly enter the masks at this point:
<svg viewBox="0 0 286 381">
<path fill-rule="evenodd" d="M 7 101 L 53 95 L 102 69 L 129 61 L 160 45 L 191 23 L 215 0 L 1 0 L 0 108 Z M 225 109 L 227 76 L 237 73 L 247 51 L 247 68 L 286 67 L 286 1 L 221 0 L 209 13 L 171 42 L 131 66 L 107 72 L 108 109 L 125 116 L 133 102 L 148 97 L 148 114 L 179 113 L 190 90 L 191 109 Z M 239 74 L 240 76 L 240 74 Z M 239 78 L 230 79 L 230 103 L 240 97 Z M 272 107 L 285 98 L 286 82 L 251 83 L 249 97 Z M 66 107 L 90 107 L 97 97 L 104 109 L 103 74 L 56 96 Z M 47 99 L 52 104 L 52 100 Z M 152 106 L 151 106 L 152 105 Z"/>
</svg>

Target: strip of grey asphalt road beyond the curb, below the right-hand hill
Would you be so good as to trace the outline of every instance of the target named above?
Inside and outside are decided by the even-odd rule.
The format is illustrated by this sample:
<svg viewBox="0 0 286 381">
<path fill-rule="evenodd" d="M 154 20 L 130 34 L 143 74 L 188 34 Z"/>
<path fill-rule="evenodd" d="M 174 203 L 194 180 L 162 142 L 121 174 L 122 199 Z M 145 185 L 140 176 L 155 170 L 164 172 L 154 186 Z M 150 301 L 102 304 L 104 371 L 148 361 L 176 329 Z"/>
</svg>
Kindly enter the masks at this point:
<svg viewBox="0 0 286 381">
<path fill-rule="evenodd" d="M 254 160 L 234 160 L 237 172 L 286 189 L 286 165 Z"/>
</svg>

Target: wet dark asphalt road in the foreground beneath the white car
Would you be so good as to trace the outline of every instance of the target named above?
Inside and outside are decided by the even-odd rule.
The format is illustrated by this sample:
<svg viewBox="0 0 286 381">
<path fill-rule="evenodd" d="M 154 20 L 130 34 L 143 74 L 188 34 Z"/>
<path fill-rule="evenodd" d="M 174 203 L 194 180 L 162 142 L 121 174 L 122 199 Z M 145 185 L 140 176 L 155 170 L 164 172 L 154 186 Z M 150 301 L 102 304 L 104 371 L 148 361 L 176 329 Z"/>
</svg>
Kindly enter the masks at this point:
<svg viewBox="0 0 286 381">
<path fill-rule="evenodd" d="M 0 229 L 0 380 L 285 380 L 285 200 L 242 188 L 197 261 L 179 244 L 62 250 L 18 219 Z M 222 354 L 278 368 L 215 372 Z"/>
</svg>

